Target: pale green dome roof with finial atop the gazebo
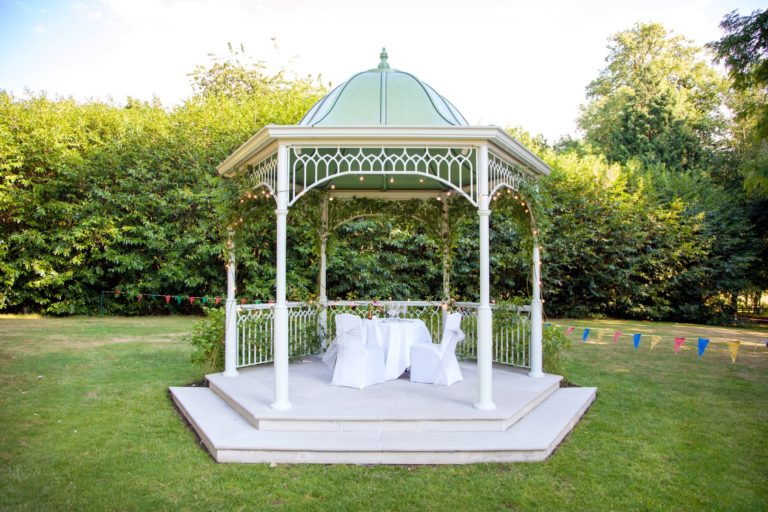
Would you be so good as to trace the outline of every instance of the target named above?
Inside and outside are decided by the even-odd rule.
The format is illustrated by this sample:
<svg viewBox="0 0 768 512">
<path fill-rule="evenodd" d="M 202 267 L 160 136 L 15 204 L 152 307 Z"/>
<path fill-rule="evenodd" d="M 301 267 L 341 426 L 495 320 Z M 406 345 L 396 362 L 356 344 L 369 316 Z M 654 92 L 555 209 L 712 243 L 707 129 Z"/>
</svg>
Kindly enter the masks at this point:
<svg viewBox="0 0 768 512">
<path fill-rule="evenodd" d="M 415 76 L 389 67 L 358 73 L 315 103 L 300 126 L 467 126 L 450 101 Z"/>
</svg>

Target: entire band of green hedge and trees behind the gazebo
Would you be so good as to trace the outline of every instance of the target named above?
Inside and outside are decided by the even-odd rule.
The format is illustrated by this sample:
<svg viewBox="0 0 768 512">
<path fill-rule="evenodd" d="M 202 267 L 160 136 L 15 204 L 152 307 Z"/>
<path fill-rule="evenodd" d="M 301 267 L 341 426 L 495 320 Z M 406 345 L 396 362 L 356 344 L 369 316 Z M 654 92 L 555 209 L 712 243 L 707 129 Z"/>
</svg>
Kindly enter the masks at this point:
<svg viewBox="0 0 768 512">
<path fill-rule="evenodd" d="M 493 298 L 530 300 L 536 232 L 548 314 L 728 319 L 739 293 L 768 283 L 766 92 L 734 90 L 725 120 L 724 81 L 689 41 L 638 24 L 609 49 L 579 120 L 585 141 L 510 130 L 553 171 L 493 200 Z M 190 77 L 195 94 L 173 109 L 0 91 L 0 309 L 93 313 L 115 289 L 223 296 L 230 227 L 238 295 L 274 297 L 274 200 L 244 197 L 248 177 L 215 166 L 265 124 L 297 122 L 323 86 L 268 75 L 231 47 Z M 477 300 L 477 212 L 445 204 L 443 226 L 442 202 L 332 202 L 328 296 Z M 317 193 L 291 208 L 292 300 L 318 293 L 319 212 Z M 167 312 L 151 300 L 106 309 Z"/>
</svg>

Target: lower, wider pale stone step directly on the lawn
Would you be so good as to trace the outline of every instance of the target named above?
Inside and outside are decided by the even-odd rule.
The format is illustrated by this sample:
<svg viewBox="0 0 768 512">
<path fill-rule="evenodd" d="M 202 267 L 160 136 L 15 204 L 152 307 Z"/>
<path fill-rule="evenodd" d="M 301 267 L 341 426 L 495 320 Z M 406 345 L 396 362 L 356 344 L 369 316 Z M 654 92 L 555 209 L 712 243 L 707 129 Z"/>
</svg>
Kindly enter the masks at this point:
<svg viewBox="0 0 768 512">
<path fill-rule="evenodd" d="M 596 389 L 558 389 L 504 432 L 264 431 L 209 388 L 171 388 L 171 394 L 218 462 L 467 464 L 546 459 Z"/>
</svg>

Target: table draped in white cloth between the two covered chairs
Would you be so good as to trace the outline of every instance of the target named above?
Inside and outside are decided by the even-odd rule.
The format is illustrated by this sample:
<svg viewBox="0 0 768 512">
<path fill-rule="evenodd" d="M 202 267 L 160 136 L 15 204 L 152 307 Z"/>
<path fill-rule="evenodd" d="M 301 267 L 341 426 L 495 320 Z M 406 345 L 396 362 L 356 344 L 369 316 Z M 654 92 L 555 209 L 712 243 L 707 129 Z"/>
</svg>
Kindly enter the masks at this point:
<svg viewBox="0 0 768 512">
<path fill-rule="evenodd" d="M 411 345 L 432 343 L 432 335 L 418 319 L 374 318 L 365 320 L 366 337 L 384 349 L 384 378 L 394 380 L 411 366 Z"/>
</svg>

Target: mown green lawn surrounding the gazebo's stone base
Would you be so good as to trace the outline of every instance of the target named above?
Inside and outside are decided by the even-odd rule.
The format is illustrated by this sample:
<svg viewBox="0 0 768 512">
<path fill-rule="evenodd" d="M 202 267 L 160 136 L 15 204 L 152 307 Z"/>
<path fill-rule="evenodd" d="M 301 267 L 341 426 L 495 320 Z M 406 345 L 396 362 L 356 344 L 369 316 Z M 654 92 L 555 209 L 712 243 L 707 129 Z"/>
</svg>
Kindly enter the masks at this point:
<svg viewBox="0 0 768 512">
<path fill-rule="evenodd" d="M 0 317 L 0 510 L 768 509 L 768 353 L 734 364 L 715 336 L 766 330 L 689 326 L 713 339 L 701 359 L 695 340 L 574 342 L 566 375 L 598 398 L 544 463 L 269 467 L 214 463 L 174 410 L 168 386 L 200 378 L 194 320 Z"/>
</svg>

